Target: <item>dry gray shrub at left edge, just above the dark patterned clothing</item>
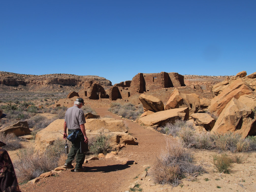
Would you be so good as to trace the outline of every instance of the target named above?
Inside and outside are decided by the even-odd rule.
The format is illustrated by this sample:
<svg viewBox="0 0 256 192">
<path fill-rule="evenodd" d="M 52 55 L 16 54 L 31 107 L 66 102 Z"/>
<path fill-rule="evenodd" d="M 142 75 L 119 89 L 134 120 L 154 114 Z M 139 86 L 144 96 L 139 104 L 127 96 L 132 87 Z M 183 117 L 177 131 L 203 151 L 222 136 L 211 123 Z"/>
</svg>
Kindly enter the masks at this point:
<svg viewBox="0 0 256 192">
<path fill-rule="evenodd" d="M 15 150 L 21 147 L 21 139 L 17 137 L 14 133 L 4 134 L 3 132 L 0 132 L 0 141 L 6 144 L 2 147 L 5 150 Z"/>
</svg>

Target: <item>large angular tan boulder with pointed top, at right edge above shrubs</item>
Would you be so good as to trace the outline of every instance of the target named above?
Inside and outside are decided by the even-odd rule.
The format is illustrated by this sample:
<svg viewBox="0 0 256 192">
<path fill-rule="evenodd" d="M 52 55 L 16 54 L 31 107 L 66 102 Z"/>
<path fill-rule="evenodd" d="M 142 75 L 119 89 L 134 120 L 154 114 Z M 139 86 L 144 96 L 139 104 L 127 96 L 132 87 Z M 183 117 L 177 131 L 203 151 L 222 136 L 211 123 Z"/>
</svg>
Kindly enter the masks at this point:
<svg viewBox="0 0 256 192">
<path fill-rule="evenodd" d="M 255 134 L 255 120 L 256 116 L 248 106 L 232 98 L 221 112 L 211 132 L 220 134 L 233 132 L 245 138 Z"/>
</svg>

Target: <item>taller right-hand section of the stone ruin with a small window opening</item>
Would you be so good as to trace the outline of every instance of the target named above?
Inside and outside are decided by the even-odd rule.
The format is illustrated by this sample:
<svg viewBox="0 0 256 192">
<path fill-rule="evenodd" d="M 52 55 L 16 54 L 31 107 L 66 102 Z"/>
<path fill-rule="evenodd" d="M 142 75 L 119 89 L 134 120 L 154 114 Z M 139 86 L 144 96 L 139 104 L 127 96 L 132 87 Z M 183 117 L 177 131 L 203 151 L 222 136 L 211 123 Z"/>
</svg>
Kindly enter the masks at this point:
<svg viewBox="0 0 256 192">
<path fill-rule="evenodd" d="M 185 86 L 184 76 L 178 73 L 138 73 L 132 78 L 132 81 L 115 84 L 116 88 L 113 87 L 109 91 L 109 98 L 111 101 L 127 99 L 137 93 L 182 86 Z"/>
</svg>

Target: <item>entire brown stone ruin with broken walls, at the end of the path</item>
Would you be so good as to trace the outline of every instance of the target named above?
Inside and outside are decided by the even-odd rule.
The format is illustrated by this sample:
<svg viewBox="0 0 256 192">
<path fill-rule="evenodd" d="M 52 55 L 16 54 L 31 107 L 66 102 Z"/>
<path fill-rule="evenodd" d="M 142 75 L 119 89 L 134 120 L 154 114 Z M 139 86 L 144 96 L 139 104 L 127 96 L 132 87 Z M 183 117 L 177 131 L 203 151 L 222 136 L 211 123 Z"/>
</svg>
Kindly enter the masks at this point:
<svg viewBox="0 0 256 192">
<path fill-rule="evenodd" d="M 178 73 L 138 73 L 131 81 L 124 81 L 115 84 L 109 90 L 105 91 L 104 88 L 98 83 L 84 85 L 84 89 L 77 92 L 71 92 L 66 99 L 60 99 L 55 104 L 61 106 L 72 106 L 73 101 L 78 97 L 83 99 L 110 99 L 111 101 L 117 99 L 127 99 L 132 95 L 144 93 L 147 91 L 169 88 L 169 87 L 182 87 L 184 84 L 184 76 Z"/>
</svg>

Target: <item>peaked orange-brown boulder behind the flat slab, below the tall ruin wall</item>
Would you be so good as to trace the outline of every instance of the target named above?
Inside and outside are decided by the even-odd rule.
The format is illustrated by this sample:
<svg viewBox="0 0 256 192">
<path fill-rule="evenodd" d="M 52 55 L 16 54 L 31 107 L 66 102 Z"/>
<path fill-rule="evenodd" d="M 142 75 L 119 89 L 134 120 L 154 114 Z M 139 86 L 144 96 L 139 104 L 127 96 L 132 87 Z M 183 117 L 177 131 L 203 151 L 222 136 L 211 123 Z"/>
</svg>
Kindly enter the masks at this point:
<svg viewBox="0 0 256 192">
<path fill-rule="evenodd" d="M 170 95 L 165 105 L 165 110 L 189 107 L 189 115 L 196 113 L 200 109 L 200 100 L 195 93 L 180 93 L 177 88 Z"/>
</svg>

